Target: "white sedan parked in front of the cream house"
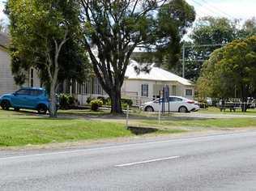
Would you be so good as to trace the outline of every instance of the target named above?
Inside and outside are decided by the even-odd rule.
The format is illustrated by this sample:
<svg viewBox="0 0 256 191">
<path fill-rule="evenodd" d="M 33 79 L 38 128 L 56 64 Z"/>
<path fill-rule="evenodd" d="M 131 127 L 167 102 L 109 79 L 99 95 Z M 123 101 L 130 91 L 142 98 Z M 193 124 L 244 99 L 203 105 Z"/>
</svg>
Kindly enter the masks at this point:
<svg viewBox="0 0 256 191">
<path fill-rule="evenodd" d="M 146 112 L 157 112 L 159 108 L 162 110 L 162 99 L 161 104 L 160 99 L 153 100 L 143 104 L 143 110 Z M 199 106 L 194 102 L 194 100 L 188 100 L 185 97 L 180 96 L 170 96 L 169 102 L 164 102 L 165 112 L 196 112 Z"/>
</svg>

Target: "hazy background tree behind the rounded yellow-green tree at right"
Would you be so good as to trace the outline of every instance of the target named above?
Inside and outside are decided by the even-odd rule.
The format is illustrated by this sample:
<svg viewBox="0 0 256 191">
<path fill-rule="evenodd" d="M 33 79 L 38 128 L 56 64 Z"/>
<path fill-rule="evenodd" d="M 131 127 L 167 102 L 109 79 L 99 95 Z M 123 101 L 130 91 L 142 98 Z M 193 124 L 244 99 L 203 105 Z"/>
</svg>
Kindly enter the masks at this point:
<svg viewBox="0 0 256 191">
<path fill-rule="evenodd" d="M 193 40 L 192 44 L 186 43 L 186 78 L 196 81 L 203 62 L 215 49 L 220 49 L 224 44 L 235 39 L 245 39 L 255 34 L 255 18 L 248 19 L 245 23 L 227 18 L 204 17 L 199 19 L 194 24 L 190 35 Z M 181 66 L 177 70 L 181 70 Z"/>
</svg>

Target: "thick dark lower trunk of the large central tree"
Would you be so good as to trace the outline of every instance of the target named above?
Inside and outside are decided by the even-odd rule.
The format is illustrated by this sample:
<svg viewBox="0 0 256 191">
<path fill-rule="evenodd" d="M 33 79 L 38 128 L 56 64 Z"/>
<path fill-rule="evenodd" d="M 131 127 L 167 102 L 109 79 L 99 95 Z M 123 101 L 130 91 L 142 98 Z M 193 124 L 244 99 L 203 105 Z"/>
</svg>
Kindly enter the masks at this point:
<svg viewBox="0 0 256 191">
<path fill-rule="evenodd" d="M 115 90 L 110 95 L 111 99 L 111 113 L 122 114 L 122 100 L 121 100 L 121 90 Z"/>
</svg>

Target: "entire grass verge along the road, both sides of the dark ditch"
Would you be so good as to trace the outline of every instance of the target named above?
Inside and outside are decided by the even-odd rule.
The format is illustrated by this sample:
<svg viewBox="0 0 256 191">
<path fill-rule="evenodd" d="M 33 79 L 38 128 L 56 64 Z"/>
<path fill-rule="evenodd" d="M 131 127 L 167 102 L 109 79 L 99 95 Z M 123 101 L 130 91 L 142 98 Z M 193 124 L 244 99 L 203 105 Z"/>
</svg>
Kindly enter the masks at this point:
<svg viewBox="0 0 256 191">
<path fill-rule="evenodd" d="M 214 112 L 214 110 L 208 112 Z M 71 118 L 49 119 L 49 117 L 38 116 L 36 112 L 14 112 L 0 109 L 0 146 L 41 145 L 53 142 L 134 136 L 132 130 L 126 129 L 125 116 L 119 117 L 121 120 L 118 121 L 108 116 L 109 111 L 68 110 L 59 113 L 64 117 L 71 116 Z M 158 125 L 157 117 L 151 115 L 147 117 L 147 115 L 136 112 L 133 115 L 134 119 L 130 121 L 130 125 L 156 128 L 153 134 L 176 134 L 194 131 L 197 128 L 256 127 L 256 118 L 194 119 L 168 116 L 164 117 Z M 83 118 L 85 116 L 92 117 L 94 120 L 85 120 Z M 100 116 L 106 117 L 104 120 L 99 118 L 96 121 Z"/>
</svg>

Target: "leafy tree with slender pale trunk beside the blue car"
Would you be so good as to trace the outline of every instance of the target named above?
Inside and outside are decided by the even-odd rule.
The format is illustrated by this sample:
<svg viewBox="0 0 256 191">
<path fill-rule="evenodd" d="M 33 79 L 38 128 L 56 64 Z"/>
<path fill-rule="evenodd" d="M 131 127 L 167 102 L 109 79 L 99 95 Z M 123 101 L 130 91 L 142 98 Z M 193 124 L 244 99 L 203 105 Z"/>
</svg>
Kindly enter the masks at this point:
<svg viewBox="0 0 256 191">
<path fill-rule="evenodd" d="M 50 117 L 57 117 L 59 77 L 72 63 L 63 58 L 70 58 L 72 53 L 67 50 L 78 45 L 79 4 L 75 0 L 9 0 L 6 7 L 11 20 L 13 72 L 22 74 L 29 67 L 41 71 L 43 83 L 49 85 Z M 24 76 L 18 77 L 22 81 Z"/>
</svg>

